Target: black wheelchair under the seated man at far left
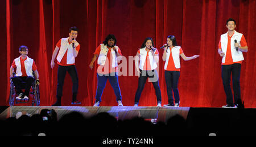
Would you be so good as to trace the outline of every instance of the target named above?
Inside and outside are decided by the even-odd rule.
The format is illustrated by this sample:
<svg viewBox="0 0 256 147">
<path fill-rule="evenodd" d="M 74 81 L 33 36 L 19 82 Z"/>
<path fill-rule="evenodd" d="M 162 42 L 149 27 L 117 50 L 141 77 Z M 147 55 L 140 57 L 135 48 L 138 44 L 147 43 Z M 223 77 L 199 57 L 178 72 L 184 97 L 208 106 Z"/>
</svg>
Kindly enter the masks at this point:
<svg viewBox="0 0 256 147">
<path fill-rule="evenodd" d="M 13 75 L 15 76 L 16 74 L 13 73 Z M 9 105 L 13 106 L 14 104 L 19 104 L 19 103 L 29 103 L 32 97 L 32 106 L 39 106 L 40 105 L 40 92 L 39 92 L 39 82 L 36 81 L 35 79 L 35 74 L 33 72 L 34 75 L 34 81 L 32 82 L 32 86 L 30 88 L 30 96 L 28 101 L 25 100 L 16 100 L 16 97 L 18 96 L 18 94 L 15 91 L 15 86 L 13 83 L 13 80 L 10 79 L 10 97 L 9 97 Z M 26 88 L 26 82 L 22 82 L 21 85 L 22 90 L 24 90 Z"/>
</svg>

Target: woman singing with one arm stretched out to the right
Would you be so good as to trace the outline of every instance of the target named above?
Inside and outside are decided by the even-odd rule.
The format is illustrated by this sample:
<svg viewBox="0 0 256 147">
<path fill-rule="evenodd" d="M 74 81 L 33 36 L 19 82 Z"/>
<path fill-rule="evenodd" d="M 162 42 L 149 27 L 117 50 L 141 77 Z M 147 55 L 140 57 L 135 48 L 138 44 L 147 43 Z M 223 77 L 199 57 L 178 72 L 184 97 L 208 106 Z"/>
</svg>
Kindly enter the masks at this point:
<svg viewBox="0 0 256 147">
<path fill-rule="evenodd" d="M 184 60 L 192 60 L 199 57 L 199 55 L 193 55 L 192 57 L 187 57 L 180 46 L 177 46 L 176 38 L 173 35 L 167 37 L 167 44 L 163 46 L 163 61 L 164 64 L 164 77 L 166 79 L 166 89 L 168 96 L 168 104 L 164 107 L 179 107 L 180 106 L 180 96 L 178 90 L 178 81 L 180 77 L 180 57 Z M 172 97 L 172 92 L 174 92 L 174 98 Z"/>
</svg>

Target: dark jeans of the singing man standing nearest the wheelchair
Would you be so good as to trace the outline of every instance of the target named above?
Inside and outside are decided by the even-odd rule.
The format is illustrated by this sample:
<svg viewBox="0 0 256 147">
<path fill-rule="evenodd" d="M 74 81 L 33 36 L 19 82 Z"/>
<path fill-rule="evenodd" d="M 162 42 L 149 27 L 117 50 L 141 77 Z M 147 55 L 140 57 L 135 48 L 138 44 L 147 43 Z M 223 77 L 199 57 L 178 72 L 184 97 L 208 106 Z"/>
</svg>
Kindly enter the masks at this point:
<svg viewBox="0 0 256 147">
<path fill-rule="evenodd" d="M 77 96 L 77 91 L 78 91 L 78 86 L 79 86 L 79 79 L 77 75 L 77 70 L 75 65 L 72 66 L 60 66 L 58 67 L 58 84 L 57 84 L 57 100 L 60 100 L 62 96 L 62 90 L 63 90 L 63 84 L 64 84 L 64 79 L 66 76 L 66 73 L 71 76 L 73 87 L 72 87 L 72 101 L 76 101 L 76 96 Z"/>
</svg>

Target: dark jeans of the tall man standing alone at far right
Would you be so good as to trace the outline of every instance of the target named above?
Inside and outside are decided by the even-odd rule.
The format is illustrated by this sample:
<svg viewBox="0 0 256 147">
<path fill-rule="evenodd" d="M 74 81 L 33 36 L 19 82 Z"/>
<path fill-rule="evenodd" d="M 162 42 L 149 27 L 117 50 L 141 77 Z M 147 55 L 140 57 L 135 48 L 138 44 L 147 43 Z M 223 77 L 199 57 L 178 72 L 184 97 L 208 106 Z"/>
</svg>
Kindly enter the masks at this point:
<svg viewBox="0 0 256 147">
<path fill-rule="evenodd" d="M 221 76 L 224 85 L 224 90 L 226 93 L 226 104 L 234 105 L 237 103 L 238 99 L 241 99 L 241 90 L 240 90 L 240 73 L 241 73 L 241 64 L 235 63 L 231 65 L 222 65 L 221 66 Z M 230 77 L 232 74 L 233 81 L 233 92 L 234 92 L 234 100 L 233 94 L 230 87 Z"/>
</svg>

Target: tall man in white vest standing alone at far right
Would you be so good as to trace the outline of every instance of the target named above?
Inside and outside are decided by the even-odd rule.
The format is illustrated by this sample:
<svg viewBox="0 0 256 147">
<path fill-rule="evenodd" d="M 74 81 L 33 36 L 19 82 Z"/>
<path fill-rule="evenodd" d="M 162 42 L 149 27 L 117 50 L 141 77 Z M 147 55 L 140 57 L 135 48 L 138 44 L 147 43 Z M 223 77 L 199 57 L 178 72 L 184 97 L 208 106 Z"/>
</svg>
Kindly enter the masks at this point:
<svg viewBox="0 0 256 147">
<path fill-rule="evenodd" d="M 245 36 L 235 31 L 236 20 L 230 18 L 226 21 L 228 32 L 222 34 L 218 44 L 218 54 L 222 57 L 221 77 L 226 94 L 226 105 L 224 108 L 237 107 L 238 100 L 241 99 L 240 73 L 243 52 L 248 51 Z M 232 75 L 233 92 L 230 87 L 230 77 Z"/>
</svg>

